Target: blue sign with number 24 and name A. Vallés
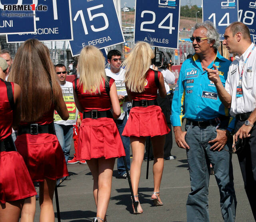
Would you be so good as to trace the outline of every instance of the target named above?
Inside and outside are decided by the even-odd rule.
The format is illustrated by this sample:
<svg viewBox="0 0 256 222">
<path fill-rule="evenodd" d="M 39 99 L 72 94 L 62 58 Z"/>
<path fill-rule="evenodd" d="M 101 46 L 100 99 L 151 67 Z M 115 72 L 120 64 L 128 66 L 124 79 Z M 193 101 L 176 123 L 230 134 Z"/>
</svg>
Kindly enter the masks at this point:
<svg viewBox="0 0 256 222">
<path fill-rule="evenodd" d="M 178 48 L 180 0 L 136 0 L 134 43 Z"/>
</svg>

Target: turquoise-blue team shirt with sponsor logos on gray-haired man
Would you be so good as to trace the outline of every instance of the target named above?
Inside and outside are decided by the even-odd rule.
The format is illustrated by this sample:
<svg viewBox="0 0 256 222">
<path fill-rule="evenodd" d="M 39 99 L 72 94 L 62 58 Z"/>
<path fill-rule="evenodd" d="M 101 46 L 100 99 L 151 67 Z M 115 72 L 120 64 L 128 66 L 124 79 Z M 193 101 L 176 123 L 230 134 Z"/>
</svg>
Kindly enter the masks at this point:
<svg viewBox="0 0 256 222">
<path fill-rule="evenodd" d="M 213 64 L 218 67 L 220 80 L 224 87 L 230 63 L 231 61 L 217 52 L 214 61 L 208 66 L 209 69 L 214 69 Z M 182 118 L 206 121 L 220 115 L 228 116 L 229 110 L 220 101 L 216 86 L 208 79 L 207 71 L 202 69 L 199 56 L 194 54 L 192 58 L 184 61 L 180 69 L 172 100 L 172 125 L 181 126 Z"/>
</svg>

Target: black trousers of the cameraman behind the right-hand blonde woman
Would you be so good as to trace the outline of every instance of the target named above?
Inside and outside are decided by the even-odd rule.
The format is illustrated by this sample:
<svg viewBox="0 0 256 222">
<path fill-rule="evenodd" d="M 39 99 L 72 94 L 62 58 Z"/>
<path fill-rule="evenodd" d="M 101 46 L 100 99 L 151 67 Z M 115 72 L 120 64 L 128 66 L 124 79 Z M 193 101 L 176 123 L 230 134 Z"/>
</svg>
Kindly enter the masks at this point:
<svg viewBox="0 0 256 222">
<path fill-rule="evenodd" d="M 159 95 L 157 95 L 156 100 L 158 102 L 158 105 L 161 107 L 164 113 L 167 125 L 171 130 L 168 134 L 166 134 L 165 144 L 164 144 L 164 157 L 170 157 L 171 149 L 172 149 L 172 124 L 170 121 L 172 95 L 166 95 L 165 98 L 161 98 Z M 154 156 L 153 156 L 152 143 L 150 141 L 150 137 L 147 137 L 146 139 L 145 148 L 146 148 L 145 157 L 148 156 L 148 150 L 150 150 L 149 158 L 153 159 Z"/>
</svg>

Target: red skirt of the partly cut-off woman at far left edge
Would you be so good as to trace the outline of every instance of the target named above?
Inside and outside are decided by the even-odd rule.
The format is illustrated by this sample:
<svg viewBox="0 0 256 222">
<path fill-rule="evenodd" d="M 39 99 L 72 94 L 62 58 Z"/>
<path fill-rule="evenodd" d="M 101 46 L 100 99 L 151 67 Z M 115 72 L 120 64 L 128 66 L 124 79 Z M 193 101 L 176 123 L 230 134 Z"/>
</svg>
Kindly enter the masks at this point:
<svg viewBox="0 0 256 222">
<path fill-rule="evenodd" d="M 36 195 L 36 190 L 22 156 L 16 151 L 0 152 L 0 202 Z"/>
</svg>

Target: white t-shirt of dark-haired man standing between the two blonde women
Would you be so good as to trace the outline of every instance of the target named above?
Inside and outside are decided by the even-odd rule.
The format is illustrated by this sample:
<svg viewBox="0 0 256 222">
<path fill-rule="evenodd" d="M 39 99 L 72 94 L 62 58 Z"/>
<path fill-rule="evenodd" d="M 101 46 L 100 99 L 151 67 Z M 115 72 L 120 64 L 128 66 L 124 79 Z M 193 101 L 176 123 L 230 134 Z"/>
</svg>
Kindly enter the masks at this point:
<svg viewBox="0 0 256 222">
<path fill-rule="evenodd" d="M 124 69 L 120 69 L 118 73 L 112 73 L 110 69 L 105 69 L 106 75 L 115 80 L 117 95 L 127 96 L 126 87 L 124 83 Z M 125 112 L 132 108 L 131 102 L 120 102 L 121 115 L 118 119 L 124 119 Z"/>
</svg>

